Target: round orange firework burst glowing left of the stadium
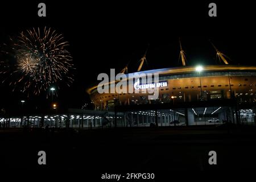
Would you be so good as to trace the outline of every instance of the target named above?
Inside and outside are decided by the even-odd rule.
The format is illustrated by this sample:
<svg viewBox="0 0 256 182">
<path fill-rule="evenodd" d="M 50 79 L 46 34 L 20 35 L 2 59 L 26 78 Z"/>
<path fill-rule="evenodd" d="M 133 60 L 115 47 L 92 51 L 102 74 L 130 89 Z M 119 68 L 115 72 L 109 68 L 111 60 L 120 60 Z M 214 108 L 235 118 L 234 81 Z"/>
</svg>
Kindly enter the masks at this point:
<svg viewBox="0 0 256 182">
<path fill-rule="evenodd" d="M 10 85 L 22 92 L 32 92 L 36 95 L 47 90 L 51 85 L 64 82 L 69 85 L 73 78 L 72 57 L 67 51 L 68 42 L 64 42 L 61 34 L 51 28 L 39 28 L 21 32 L 13 43 L 14 61 L 1 65 L 7 68 L 2 73 L 10 73 L 14 79 Z M 7 80 L 7 79 L 6 79 Z"/>
</svg>

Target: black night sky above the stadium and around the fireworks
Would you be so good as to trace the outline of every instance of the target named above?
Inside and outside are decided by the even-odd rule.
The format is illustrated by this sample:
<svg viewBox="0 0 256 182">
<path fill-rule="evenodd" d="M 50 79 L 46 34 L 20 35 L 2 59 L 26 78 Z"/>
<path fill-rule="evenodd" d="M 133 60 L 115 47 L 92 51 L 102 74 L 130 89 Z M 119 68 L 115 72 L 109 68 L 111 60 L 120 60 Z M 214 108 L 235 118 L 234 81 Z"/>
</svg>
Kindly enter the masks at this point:
<svg viewBox="0 0 256 182">
<path fill-rule="evenodd" d="M 38 17 L 39 2 L 46 3 L 46 18 Z M 232 59 L 230 64 L 255 64 L 253 6 L 214 1 L 217 17 L 210 18 L 210 2 L 1 2 L 0 44 L 32 27 L 47 26 L 62 33 L 70 44 L 75 81 L 71 87 L 57 90 L 55 100 L 60 110 L 81 108 L 89 102 L 86 88 L 97 82 L 99 73 L 109 73 L 110 68 L 121 71 L 129 62 L 129 72 L 136 71 L 148 44 L 148 64 L 143 69 L 180 66 L 179 37 L 188 65 L 220 64 L 209 39 Z M 27 98 L 12 89 L 0 85 L 0 107 L 9 113 L 19 111 L 22 99 L 26 100 L 27 110 L 34 113 L 46 110 L 51 102 L 44 93 Z"/>
</svg>

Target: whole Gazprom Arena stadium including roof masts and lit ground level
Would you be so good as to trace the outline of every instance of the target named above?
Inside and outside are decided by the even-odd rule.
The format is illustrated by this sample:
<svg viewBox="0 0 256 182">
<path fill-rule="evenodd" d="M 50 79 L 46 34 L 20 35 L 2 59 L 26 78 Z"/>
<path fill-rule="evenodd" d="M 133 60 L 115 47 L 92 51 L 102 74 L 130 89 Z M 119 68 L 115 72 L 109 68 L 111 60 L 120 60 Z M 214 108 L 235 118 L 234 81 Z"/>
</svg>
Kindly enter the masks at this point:
<svg viewBox="0 0 256 182">
<path fill-rule="evenodd" d="M 128 90 L 131 86 L 133 93 L 100 94 L 97 85 L 86 92 L 95 110 L 123 113 L 122 121 L 115 119 L 116 126 L 218 125 L 226 122 L 254 124 L 256 67 L 229 65 L 225 55 L 214 48 L 225 65 L 186 66 L 180 44 L 183 67 L 141 71 L 146 60 L 145 54 L 138 74 L 159 75 L 157 99 L 150 100 L 149 93 L 142 92 L 142 88 L 150 85 L 147 82 L 141 82 L 137 88 L 139 93 L 135 93 L 137 79 L 133 82 L 127 80 L 126 88 L 122 88 Z M 127 67 L 122 73 L 125 71 Z M 109 82 L 108 85 L 111 84 Z"/>
</svg>

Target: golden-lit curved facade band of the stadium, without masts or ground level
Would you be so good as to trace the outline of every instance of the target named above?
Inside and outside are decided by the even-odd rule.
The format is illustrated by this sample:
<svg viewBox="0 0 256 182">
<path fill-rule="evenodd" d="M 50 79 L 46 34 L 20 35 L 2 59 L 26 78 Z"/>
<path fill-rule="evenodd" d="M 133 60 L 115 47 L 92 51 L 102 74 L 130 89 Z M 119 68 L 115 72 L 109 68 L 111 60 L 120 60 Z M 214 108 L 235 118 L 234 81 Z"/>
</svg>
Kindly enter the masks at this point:
<svg viewBox="0 0 256 182">
<path fill-rule="evenodd" d="M 230 99 L 232 93 L 240 102 L 255 102 L 256 67 L 208 65 L 200 73 L 196 71 L 196 67 L 165 68 L 142 73 L 159 73 L 159 82 L 167 82 L 167 85 L 159 87 L 158 100 L 147 100 L 147 94 L 143 93 L 99 94 L 97 86 L 94 86 L 87 91 L 96 109 L 102 110 L 116 104 L 159 104 Z"/>
</svg>

